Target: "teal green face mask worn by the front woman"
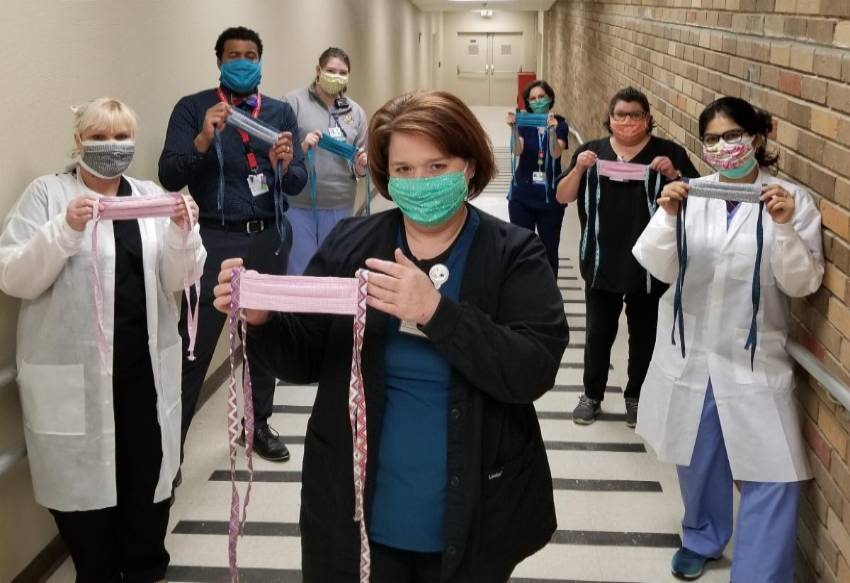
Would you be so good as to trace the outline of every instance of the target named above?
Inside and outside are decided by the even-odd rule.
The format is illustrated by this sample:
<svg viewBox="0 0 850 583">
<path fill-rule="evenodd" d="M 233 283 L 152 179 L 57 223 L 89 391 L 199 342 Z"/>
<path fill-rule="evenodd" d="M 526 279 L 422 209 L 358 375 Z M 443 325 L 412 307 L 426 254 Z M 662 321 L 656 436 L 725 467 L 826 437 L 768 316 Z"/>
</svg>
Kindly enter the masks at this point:
<svg viewBox="0 0 850 583">
<path fill-rule="evenodd" d="M 404 216 L 423 227 L 449 220 L 469 192 L 465 171 L 423 178 L 392 177 L 387 188 Z"/>
</svg>

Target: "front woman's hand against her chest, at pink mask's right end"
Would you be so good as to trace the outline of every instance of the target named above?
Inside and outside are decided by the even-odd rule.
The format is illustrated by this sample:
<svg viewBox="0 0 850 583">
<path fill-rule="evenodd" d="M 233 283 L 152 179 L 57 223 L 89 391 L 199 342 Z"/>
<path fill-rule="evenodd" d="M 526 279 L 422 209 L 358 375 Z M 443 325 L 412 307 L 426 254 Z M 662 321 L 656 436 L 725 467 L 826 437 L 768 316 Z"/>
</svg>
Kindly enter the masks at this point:
<svg viewBox="0 0 850 583">
<path fill-rule="evenodd" d="M 437 311 L 440 292 L 424 271 L 395 250 L 395 262 L 367 259 L 369 287 L 366 303 L 399 320 L 425 325 Z"/>
</svg>

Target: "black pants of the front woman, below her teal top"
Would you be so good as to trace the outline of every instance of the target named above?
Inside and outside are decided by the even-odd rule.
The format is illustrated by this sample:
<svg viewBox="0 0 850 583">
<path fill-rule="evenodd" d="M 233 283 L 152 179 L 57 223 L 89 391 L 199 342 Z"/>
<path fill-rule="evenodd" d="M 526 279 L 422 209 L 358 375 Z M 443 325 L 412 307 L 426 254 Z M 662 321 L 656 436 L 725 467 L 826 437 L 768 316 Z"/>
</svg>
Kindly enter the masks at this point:
<svg viewBox="0 0 850 583">
<path fill-rule="evenodd" d="M 303 548 L 303 547 L 302 547 Z M 370 543 L 372 572 L 370 583 L 440 583 L 442 553 L 417 553 Z M 304 554 L 302 565 L 304 583 L 357 583 L 356 572 L 340 572 L 327 557 Z M 468 583 L 506 583 L 510 573 L 493 581 Z"/>
</svg>

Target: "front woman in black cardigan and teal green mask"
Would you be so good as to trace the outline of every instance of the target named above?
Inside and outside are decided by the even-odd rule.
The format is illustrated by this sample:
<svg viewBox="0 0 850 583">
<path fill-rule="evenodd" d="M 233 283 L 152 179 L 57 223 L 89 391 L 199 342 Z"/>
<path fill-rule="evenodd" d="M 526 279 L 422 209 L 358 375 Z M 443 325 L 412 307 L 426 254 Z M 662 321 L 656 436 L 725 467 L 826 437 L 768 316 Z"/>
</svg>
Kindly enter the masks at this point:
<svg viewBox="0 0 850 583">
<path fill-rule="evenodd" d="M 466 201 L 496 173 L 472 112 L 442 92 L 388 102 L 369 127 L 376 187 L 399 209 L 342 221 L 305 275 L 371 271 L 362 369 L 372 583 L 503 583 L 555 530 L 532 402 L 569 331 L 543 245 Z M 225 261 L 216 306 L 230 306 Z M 358 580 L 348 418 L 351 320 L 249 310 L 249 358 L 318 381 L 301 491 L 305 583 Z"/>
</svg>

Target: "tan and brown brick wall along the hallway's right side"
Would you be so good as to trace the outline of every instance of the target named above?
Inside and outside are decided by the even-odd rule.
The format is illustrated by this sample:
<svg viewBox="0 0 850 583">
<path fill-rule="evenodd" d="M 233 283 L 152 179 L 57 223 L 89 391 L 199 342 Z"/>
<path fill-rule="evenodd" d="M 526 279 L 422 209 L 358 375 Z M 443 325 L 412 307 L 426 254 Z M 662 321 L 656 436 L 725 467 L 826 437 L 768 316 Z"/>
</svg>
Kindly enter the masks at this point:
<svg viewBox="0 0 850 583">
<path fill-rule="evenodd" d="M 774 115 L 780 172 L 820 207 L 828 261 L 823 287 L 792 303 L 794 335 L 850 385 L 850 0 L 560 0 L 545 25 L 557 109 L 586 140 L 604 135 L 608 99 L 626 85 L 695 162 L 697 117 L 715 98 Z M 850 582 L 850 416 L 804 372 L 797 381 L 815 474 L 798 579 Z"/>
</svg>

